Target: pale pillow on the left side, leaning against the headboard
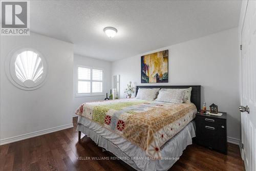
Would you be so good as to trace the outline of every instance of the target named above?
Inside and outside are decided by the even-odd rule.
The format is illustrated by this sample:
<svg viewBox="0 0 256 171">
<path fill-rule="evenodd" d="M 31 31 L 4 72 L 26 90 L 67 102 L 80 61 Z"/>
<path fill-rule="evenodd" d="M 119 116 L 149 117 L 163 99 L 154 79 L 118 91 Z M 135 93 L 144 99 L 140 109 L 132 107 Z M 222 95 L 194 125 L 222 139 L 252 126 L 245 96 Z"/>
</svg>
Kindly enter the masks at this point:
<svg viewBox="0 0 256 171">
<path fill-rule="evenodd" d="M 155 100 L 160 89 L 139 89 L 136 99 Z"/>
</svg>

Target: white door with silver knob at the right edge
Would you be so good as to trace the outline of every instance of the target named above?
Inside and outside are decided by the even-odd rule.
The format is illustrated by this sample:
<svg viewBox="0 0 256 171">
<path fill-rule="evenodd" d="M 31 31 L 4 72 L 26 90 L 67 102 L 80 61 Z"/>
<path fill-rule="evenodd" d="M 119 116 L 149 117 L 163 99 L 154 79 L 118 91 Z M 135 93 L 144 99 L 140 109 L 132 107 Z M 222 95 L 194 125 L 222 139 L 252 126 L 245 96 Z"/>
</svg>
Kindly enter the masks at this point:
<svg viewBox="0 0 256 171">
<path fill-rule="evenodd" d="M 247 171 L 256 171 L 256 1 L 248 1 L 241 32 L 242 157 Z M 241 109 L 245 111 L 245 109 Z"/>
</svg>

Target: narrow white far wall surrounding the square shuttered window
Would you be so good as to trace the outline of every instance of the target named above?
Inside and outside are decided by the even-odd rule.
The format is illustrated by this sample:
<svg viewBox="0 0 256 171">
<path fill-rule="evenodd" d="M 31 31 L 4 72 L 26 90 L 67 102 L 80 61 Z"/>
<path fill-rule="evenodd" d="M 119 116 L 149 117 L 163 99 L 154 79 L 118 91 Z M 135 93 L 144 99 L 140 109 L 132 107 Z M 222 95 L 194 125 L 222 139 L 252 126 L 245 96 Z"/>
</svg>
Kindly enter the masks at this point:
<svg viewBox="0 0 256 171">
<path fill-rule="evenodd" d="M 103 70 L 103 95 L 102 96 L 83 96 L 77 97 L 76 96 L 76 87 L 77 87 L 77 66 L 87 66 L 97 69 Z M 84 57 L 80 55 L 74 55 L 74 101 L 73 101 L 73 114 L 75 113 L 76 109 L 84 102 L 89 101 L 97 101 L 97 100 L 104 100 L 106 97 L 106 93 L 108 92 L 108 96 L 110 95 L 111 89 L 111 62 L 98 60 L 90 57 Z M 73 115 L 77 116 L 77 115 Z"/>
</svg>

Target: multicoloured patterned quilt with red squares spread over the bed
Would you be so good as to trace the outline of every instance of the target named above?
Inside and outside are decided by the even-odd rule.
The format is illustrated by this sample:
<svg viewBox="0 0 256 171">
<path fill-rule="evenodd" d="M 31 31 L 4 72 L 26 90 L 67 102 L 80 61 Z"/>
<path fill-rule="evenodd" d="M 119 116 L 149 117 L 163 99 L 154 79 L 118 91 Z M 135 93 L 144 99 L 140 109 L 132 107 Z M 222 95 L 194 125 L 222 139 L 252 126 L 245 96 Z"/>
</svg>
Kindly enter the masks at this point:
<svg viewBox="0 0 256 171">
<path fill-rule="evenodd" d="M 180 132 L 197 112 L 193 103 L 118 99 L 83 103 L 76 111 L 141 147 L 152 159 L 161 146 Z"/>
</svg>

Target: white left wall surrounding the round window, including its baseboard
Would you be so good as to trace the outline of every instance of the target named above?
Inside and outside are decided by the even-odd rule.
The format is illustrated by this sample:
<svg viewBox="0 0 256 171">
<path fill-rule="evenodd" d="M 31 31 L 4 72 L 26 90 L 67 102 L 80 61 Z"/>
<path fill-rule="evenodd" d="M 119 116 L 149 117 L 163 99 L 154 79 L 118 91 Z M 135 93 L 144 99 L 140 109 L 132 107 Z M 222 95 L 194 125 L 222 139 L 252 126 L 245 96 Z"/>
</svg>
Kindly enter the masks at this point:
<svg viewBox="0 0 256 171">
<path fill-rule="evenodd" d="M 8 53 L 23 46 L 38 50 L 48 61 L 46 83 L 33 91 L 15 87 L 4 71 Z M 73 127 L 72 82 L 73 44 L 36 33 L 1 36 L 0 143 Z"/>
</svg>

